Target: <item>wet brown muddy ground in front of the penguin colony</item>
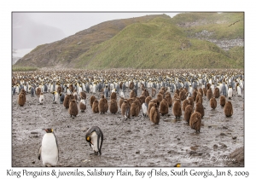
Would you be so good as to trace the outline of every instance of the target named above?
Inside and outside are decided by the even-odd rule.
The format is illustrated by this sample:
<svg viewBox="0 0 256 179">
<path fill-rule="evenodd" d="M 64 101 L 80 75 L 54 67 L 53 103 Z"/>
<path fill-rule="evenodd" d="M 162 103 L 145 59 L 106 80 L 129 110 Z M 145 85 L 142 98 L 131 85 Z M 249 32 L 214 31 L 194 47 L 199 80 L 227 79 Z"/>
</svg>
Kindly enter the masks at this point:
<svg viewBox="0 0 256 179">
<path fill-rule="evenodd" d="M 53 104 L 50 93 L 44 94 L 43 105 L 37 96 L 27 94 L 24 107 L 17 104 L 18 95 L 13 95 L 12 166 L 44 166 L 37 157 L 44 128 L 55 131 L 58 167 L 172 167 L 177 163 L 190 167 L 244 166 L 224 161 L 230 159 L 230 153 L 236 148 L 244 147 L 244 99 L 238 97 L 236 91 L 231 100 L 234 111 L 231 118 L 224 116 L 219 98 L 217 108 L 212 110 L 207 97 L 203 96 L 206 108 L 199 134 L 189 127 L 183 116 L 176 119 L 172 107 L 168 115 L 160 116 L 160 124 L 153 124 L 148 117 L 143 117 L 142 110 L 138 117 L 127 120 L 121 116 L 120 109 L 116 114 L 109 110 L 105 114 L 92 113 L 89 101 L 92 94 L 86 95 L 86 110 L 79 111 L 76 118 L 70 117 L 62 104 Z M 128 95 L 129 92 L 125 92 L 125 96 Z M 98 96 L 99 93 L 97 99 Z M 104 135 L 102 156 L 90 155 L 93 151 L 85 141 L 84 130 L 94 125 L 100 127 Z"/>
</svg>

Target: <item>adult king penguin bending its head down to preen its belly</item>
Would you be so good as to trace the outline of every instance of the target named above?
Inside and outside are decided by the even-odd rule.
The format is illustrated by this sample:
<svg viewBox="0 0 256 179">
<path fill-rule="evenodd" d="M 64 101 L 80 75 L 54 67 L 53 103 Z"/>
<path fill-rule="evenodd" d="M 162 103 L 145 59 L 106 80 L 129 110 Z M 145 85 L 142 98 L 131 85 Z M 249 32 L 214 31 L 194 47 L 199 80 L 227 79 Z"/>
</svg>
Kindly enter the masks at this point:
<svg viewBox="0 0 256 179">
<path fill-rule="evenodd" d="M 102 155 L 102 142 L 103 142 L 103 133 L 98 126 L 92 126 L 89 130 L 86 131 L 85 140 L 89 142 L 90 147 L 93 149 L 95 154 Z"/>
</svg>

